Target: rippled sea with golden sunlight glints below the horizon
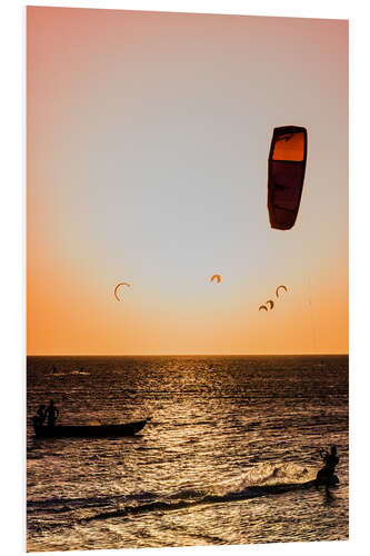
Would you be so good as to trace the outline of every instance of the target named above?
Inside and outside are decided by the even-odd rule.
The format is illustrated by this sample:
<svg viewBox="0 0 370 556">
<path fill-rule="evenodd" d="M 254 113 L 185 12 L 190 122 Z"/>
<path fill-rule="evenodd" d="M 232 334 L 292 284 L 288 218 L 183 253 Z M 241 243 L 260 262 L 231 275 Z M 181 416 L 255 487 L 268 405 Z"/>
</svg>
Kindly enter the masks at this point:
<svg viewBox="0 0 370 556">
<path fill-rule="evenodd" d="M 347 356 L 29 357 L 27 380 L 28 550 L 348 538 Z M 36 439 L 50 398 L 59 424 L 152 419 Z M 331 444 L 328 498 L 300 485 Z"/>
</svg>

